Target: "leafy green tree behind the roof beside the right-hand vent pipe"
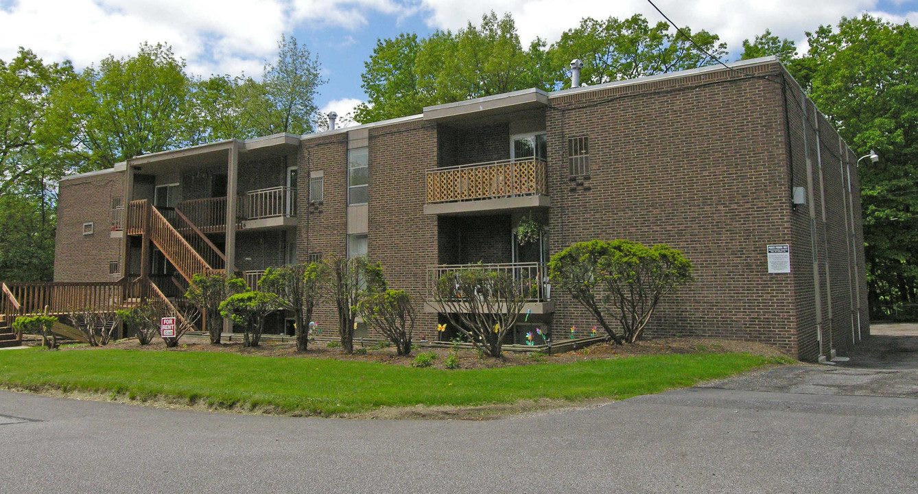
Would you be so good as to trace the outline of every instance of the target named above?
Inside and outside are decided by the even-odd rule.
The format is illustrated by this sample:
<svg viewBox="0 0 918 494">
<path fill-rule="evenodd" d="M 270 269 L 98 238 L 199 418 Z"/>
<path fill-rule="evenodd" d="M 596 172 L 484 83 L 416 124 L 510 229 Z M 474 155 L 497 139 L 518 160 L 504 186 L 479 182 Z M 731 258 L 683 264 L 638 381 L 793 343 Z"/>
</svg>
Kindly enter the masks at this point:
<svg viewBox="0 0 918 494">
<path fill-rule="evenodd" d="M 651 26 L 640 14 L 623 20 L 585 17 L 549 49 L 556 68 L 554 84 L 570 87 L 568 64 L 573 59 L 583 62 L 580 81 L 592 85 L 717 63 L 692 40 L 714 57 L 727 54 L 726 43 L 719 42 L 716 34 L 705 30 L 692 34 L 688 27 L 682 32 L 690 39 L 671 30 L 666 22 Z"/>
</svg>

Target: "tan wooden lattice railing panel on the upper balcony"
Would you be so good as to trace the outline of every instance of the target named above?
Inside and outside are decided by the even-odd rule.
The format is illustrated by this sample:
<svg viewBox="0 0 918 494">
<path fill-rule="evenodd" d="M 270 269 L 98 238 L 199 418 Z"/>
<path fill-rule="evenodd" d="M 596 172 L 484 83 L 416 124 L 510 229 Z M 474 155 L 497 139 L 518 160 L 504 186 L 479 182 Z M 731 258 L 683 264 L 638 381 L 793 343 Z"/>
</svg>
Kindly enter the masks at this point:
<svg viewBox="0 0 918 494">
<path fill-rule="evenodd" d="M 452 202 L 546 193 L 541 159 L 504 160 L 427 170 L 427 202 Z"/>
</svg>

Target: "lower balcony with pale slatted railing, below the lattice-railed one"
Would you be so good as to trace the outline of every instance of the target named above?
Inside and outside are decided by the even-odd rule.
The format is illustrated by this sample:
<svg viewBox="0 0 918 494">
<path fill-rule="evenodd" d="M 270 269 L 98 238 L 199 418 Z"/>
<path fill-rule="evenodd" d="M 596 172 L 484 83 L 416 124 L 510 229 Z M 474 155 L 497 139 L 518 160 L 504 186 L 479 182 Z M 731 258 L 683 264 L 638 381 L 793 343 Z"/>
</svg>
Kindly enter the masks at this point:
<svg viewBox="0 0 918 494">
<path fill-rule="evenodd" d="M 554 302 L 551 301 L 552 285 L 548 280 L 548 266 L 543 263 L 502 263 L 502 264 L 440 264 L 428 266 L 427 286 L 436 286 L 443 277 L 453 276 L 468 269 L 484 269 L 512 275 L 521 281 L 519 288 L 526 304 L 522 311 L 529 314 L 547 314 L 554 312 Z M 467 297 L 465 294 L 456 294 L 457 299 Z M 427 302 L 425 312 L 439 312 L 436 305 Z"/>
</svg>

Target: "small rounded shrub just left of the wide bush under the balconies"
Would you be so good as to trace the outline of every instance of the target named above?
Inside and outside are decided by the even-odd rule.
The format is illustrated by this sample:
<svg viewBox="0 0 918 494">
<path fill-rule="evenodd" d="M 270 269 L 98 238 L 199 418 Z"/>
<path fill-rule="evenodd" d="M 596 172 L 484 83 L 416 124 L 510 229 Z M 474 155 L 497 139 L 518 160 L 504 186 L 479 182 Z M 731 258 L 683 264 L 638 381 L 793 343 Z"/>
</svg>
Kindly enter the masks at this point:
<svg viewBox="0 0 918 494">
<path fill-rule="evenodd" d="M 369 326 L 396 345 L 397 354 L 411 354 L 416 316 L 408 293 L 386 290 L 368 295 L 357 304 L 357 312 Z"/>
</svg>

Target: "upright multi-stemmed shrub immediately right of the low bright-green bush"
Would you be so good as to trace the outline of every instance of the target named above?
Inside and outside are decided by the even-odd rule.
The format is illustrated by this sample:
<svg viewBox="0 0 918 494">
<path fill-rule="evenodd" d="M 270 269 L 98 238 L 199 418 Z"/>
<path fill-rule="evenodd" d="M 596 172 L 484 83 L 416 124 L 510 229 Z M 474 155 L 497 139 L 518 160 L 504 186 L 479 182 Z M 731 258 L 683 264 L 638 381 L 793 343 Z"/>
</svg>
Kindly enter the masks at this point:
<svg viewBox="0 0 918 494">
<path fill-rule="evenodd" d="M 308 321 L 324 297 L 329 283 L 328 266 L 321 263 L 269 267 L 258 282 L 259 289 L 277 296 L 282 309 L 294 313 L 297 324 L 297 352 L 309 344 Z"/>
</svg>

